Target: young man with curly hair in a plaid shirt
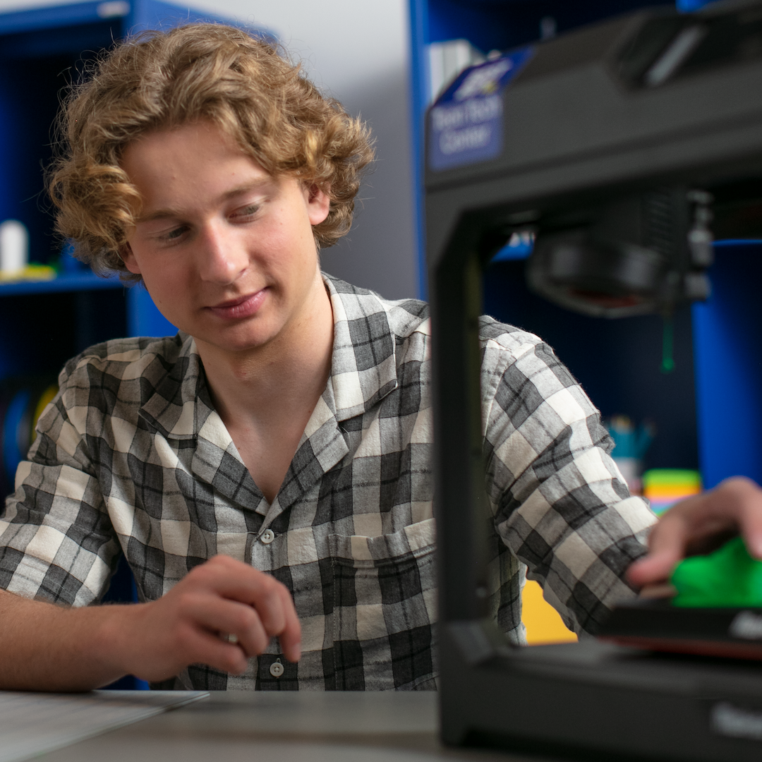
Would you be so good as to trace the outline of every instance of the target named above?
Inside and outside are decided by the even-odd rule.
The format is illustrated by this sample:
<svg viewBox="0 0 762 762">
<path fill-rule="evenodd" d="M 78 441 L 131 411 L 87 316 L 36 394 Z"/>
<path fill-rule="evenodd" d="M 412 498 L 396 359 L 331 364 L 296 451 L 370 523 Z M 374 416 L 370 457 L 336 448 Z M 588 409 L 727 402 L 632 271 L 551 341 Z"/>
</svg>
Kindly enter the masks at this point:
<svg viewBox="0 0 762 762">
<path fill-rule="evenodd" d="M 319 270 L 366 131 L 267 43 L 197 25 L 118 47 L 66 136 L 59 229 L 181 332 L 63 370 L 0 520 L 0 685 L 435 687 L 426 307 Z M 482 342 L 491 606 L 514 642 L 523 564 L 594 631 L 713 536 L 762 553 L 737 480 L 642 559 L 655 519 L 584 393 L 536 337 L 485 319 Z M 120 552 L 142 603 L 88 606 Z"/>
</svg>

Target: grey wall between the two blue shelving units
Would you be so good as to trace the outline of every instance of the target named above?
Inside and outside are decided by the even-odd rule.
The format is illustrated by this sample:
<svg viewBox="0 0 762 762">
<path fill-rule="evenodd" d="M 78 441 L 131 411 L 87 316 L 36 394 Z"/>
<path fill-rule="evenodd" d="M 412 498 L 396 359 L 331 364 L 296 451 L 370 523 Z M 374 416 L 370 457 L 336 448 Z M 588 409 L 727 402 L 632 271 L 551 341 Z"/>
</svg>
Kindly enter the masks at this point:
<svg viewBox="0 0 762 762">
<path fill-rule="evenodd" d="M 52 3 L 0 0 L 0 11 L 40 5 Z M 376 165 L 360 189 L 350 234 L 325 249 L 323 267 L 390 299 L 417 296 L 407 0 L 194 0 L 192 5 L 269 27 L 325 92 L 370 124 Z"/>
</svg>

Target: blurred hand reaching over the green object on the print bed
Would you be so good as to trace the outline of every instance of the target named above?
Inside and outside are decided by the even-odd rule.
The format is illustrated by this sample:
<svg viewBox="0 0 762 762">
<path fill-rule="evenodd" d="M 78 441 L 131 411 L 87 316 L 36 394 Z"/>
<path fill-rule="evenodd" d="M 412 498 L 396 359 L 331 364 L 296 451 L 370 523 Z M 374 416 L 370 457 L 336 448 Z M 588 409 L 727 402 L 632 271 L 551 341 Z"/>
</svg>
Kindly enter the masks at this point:
<svg viewBox="0 0 762 762">
<path fill-rule="evenodd" d="M 686 556 L 711 552 L 739 532 L 751 555 L 762 559 L 762 489 L 735 476 L 671 507 L 648 536 L 648 555 L 627 577 L 640 588 L 665 582 Z"/>
</svg>

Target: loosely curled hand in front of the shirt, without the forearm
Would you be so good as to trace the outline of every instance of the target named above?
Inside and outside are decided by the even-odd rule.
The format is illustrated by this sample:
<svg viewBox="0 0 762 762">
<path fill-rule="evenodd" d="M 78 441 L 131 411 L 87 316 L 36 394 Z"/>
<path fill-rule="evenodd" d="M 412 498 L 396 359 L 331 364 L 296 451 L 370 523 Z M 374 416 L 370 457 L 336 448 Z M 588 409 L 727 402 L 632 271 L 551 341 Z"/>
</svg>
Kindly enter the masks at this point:
<svg viewBox="0 0 762 762">
<path fill-rule="evenodd" d="M 287 588 L 226 555 L 197 566 L 158 600 L 123 608 L 125 621 L 114 622 L 123 671 L 143 680 L 172 677 L 188 664 L 241 674 L 273 637 L 289 661 L 301 655 Z"/>
</svg>

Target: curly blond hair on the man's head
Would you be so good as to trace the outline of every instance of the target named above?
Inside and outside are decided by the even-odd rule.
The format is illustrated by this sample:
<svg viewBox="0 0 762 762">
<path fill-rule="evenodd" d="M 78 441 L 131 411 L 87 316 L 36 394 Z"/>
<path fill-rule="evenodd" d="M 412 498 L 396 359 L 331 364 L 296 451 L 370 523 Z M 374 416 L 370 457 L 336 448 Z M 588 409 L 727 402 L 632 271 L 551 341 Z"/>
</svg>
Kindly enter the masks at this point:
<svg viewBox="0 0 762 762">
<path fill-rule="evenodd" d="M 72 88 L 60 115 L 60 158 L 50 168 L 56 229 L 99 274 L 126 270 L 120 249 L 140 198 L 120 168 L 128 143 L 149 130 L 211 120 L 274 176 L 317 184 L 331 200 L 315 243 L 330 246 L 352 223 L 370 132 L 325 98 L 268 40 L 223 24 L 150 31 L 117 45 Z"/>
</svg>

